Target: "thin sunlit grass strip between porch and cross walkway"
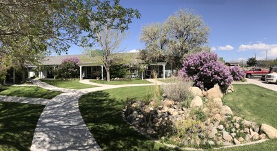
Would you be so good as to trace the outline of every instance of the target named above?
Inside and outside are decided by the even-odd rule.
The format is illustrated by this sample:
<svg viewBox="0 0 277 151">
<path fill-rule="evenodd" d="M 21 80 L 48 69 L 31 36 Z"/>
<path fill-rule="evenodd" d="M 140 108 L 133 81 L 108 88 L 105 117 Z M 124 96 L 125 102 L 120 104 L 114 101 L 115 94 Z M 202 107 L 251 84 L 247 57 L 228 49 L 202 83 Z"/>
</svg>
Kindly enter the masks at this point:
<svg viewBox="0 0 277 151">
<path fill-rule="evenodd" d="M 121 85 L 121 84 L 149 84 L 147 80 L 130 80 L 130 81 L 110 81 L 105 80 L 90 80 L 90 82 L 99 83 L 99 84 L 110 84 L 110 85 Z"/>
</svg>

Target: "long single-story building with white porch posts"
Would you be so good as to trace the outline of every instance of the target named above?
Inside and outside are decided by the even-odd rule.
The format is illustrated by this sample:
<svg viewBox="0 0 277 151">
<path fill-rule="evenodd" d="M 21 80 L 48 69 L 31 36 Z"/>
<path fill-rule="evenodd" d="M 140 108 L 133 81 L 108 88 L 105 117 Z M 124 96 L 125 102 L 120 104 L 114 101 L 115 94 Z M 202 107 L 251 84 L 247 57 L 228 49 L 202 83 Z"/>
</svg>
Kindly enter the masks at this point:
<svg viewBox="0 0 277 151">
<path fill-rule="evenodd" d="M 117 58 L 122 65 L 130 67 L 130 73 L 132 78 L 152 78 L 152 71 L 156 71 L 158 78 L 166 78 L 172 75 L 172 69 L 167 62 L 153 62 L 148 65 L 143 64 L 143 61 L 138 59 L 138 53 L 118 53 Z M 41 61 L 38 71 L 39 78 L 56 78 L 54 70 L 57 66 L 61 65 L 62 61 L 66 58 L 79 58 L 79 78 L 82 79 L 101 79 L 103 80 L 103 73 L 105 67 L 101 62 L 101 57 L 90 57 L 85 54 L 79 55 L 65 55 L 65 56 L 47 56 Z M 35 76 L 35 66 L 28 66 L 29 78 Z M 139 68 L 143 68 L 144 71 L 139 73 Z"/>
</svg>

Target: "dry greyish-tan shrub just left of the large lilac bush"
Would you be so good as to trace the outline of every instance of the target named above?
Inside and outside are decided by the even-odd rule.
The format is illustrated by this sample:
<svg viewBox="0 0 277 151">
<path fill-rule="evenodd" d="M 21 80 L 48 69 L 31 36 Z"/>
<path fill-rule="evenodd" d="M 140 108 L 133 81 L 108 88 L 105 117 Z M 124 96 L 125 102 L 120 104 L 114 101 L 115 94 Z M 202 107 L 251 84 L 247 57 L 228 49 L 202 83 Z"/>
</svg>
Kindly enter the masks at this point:
<svg viewBox="0 0 277 151">
<path fill-rule="evenodd" d="M 172 78 L 170 83 L 162 85 L 161 89 L 167 98 L 189 105 L 189 99 L 192 97 L 192 93 L 189 91 L 189 87 L 191 86 L 191 81 L 181 78 Z"/>
</svg>

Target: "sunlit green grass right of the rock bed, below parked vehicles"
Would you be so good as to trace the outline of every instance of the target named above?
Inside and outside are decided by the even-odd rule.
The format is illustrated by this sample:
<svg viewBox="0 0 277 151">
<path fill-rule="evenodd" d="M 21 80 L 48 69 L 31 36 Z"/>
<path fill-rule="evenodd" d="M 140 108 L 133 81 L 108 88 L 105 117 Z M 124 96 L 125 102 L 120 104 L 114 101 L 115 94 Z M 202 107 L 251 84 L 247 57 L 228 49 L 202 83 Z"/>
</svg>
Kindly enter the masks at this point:
<svg viewBox="0 0 277 151">
<path fill-rule="evenodd" d="M 254 84 L 233 84 L 235 92 L 225 95 L 223 104 L 249 121 L 277 128 L 277 92 Z"/>
</svg>

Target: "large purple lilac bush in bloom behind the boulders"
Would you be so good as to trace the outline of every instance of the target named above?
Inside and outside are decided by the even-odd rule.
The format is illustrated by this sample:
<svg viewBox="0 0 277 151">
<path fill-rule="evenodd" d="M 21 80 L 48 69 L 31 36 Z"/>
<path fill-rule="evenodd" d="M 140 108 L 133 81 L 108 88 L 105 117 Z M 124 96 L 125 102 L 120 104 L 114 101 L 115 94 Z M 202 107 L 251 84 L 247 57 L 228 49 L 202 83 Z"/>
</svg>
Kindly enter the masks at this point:
<svg viewBox="0 0 277 151">
<path fill-rule="evenodd" d="M 225 89 L 233 81 L 229 67 L 218 60 L 217 54 L 207 51 L 187 56 L 178 75 L 192 80 L 194 86 L 205 90 L 211 89 L 214 84 Z"/>
</svg>

